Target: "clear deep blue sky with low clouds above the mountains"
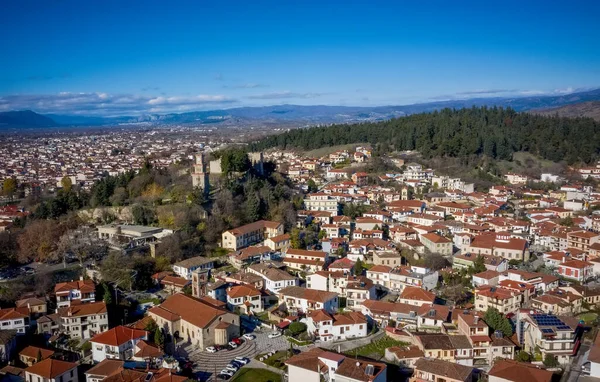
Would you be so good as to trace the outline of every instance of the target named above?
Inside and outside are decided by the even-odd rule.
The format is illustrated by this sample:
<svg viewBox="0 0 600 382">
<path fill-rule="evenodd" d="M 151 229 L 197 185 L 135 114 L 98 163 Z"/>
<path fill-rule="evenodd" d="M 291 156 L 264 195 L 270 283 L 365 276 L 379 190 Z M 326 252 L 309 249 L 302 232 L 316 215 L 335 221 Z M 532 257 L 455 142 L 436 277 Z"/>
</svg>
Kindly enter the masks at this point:
<svg viewBox="0 0 600 382">
<path fill-rule="evenodd" d="M 293 3 L 3 1 L 0 111 L 367 106 L 600 86 L 598 1 Z"/>
</svg>

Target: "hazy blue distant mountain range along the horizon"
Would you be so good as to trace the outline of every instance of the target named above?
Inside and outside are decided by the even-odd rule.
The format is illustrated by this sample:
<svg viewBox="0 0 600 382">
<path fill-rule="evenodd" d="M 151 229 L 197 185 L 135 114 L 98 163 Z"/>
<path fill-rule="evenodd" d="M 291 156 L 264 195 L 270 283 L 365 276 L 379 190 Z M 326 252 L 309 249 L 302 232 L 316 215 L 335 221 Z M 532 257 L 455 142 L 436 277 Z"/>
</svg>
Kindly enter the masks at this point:
<svg viewBox="0 0 600 382">
<path fill-rule="evenodd" d="M 585 112 L 567 113 L 561 107 L 573 109 L 575 104 L 585 103 L 586 112 L 600 107 L 600 89 L 555 96 L 471 98 L 426 102 L 399 106 L 300 106 L 277 105 L 262 107 L 239 107 L 224 110 L 209 110 L 189 113 L 149 114 L 124 117 L 71 116 L 59 114 L 37 114 L 31 110 L 0 112 L 2 128 L 49 128 L 65 126 L 111 126 L 144 123 L 149 125 L 208 125 L 215 127 L 257 124 L 295 124 L 297 126 L 379 121 L 409 114 L 433 112 L 444 108 L 468 108 L 472 106 L 511 107 L 516 111 L 536 113 L 558 113 L 565 116 L 583 115 Z M 591 102 L 591 103 L 590 103 Z M 579 113 L 579 114 L 577 114 Z M 583 114 L 582 114 L 583 113 Z"/>
</svg>

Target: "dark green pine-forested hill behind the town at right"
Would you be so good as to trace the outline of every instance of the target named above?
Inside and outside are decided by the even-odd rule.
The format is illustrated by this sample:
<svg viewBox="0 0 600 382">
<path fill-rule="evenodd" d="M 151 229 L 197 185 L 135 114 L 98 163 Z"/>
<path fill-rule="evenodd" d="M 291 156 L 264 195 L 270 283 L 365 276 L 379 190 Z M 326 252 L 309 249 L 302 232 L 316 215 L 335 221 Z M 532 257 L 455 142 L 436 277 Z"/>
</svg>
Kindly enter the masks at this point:
<svg viewBox="0 0 600 382">
<path fill-rule="evenodd" d="M 390 150 L 418 150 L 425 157 L 486 155 L 510 160 L 514 152 L 526 151 L 557 162 L 590 163 L 600 157 L 600 123 L 510 108 L 444 109 L 377 123 L 291 130 L 251 149 L 313 150 L 361 142 Z"/>
</svg>

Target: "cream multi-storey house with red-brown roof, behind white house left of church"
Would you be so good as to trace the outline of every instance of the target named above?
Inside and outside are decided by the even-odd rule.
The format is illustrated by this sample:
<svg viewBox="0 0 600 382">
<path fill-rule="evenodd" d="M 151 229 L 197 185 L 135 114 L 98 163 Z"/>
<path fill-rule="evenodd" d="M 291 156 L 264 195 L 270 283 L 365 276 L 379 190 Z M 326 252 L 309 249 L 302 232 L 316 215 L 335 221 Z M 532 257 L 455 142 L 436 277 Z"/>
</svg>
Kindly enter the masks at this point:
<svg viewBox="0 0 600 382">
<path fill-rule="evenodd" d="M 71 337 L 88 339 L 108 329 L 104 302 L 71 305 L 59 309 L 60 330 Z"/>
</svg>

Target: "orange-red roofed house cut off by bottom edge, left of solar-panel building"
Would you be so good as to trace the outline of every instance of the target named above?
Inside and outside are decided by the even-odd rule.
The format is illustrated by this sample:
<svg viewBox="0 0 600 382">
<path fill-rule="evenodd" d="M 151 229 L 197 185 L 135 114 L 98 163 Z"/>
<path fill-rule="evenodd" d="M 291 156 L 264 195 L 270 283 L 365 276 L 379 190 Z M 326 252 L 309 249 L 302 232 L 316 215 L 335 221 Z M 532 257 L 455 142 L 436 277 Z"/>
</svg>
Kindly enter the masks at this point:
<svg viewBox="0 0 600 382">
<path fill-rule="evenodd" d="M 553 372 L 530 363 L 499 359 L 488 372 L 489 382 L 551 382 Z"/>
</svg>

